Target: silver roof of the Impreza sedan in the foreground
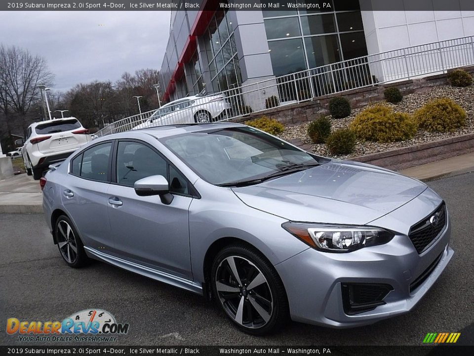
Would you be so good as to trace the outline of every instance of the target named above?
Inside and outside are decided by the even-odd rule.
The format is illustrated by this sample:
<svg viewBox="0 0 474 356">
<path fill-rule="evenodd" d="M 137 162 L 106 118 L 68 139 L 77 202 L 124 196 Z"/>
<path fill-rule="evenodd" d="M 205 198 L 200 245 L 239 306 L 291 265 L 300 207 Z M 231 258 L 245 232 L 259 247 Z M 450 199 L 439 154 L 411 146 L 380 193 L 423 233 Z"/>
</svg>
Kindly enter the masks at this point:
<svg viewBox="0 0 474 356">
<path fill-rule="evenodd" d="M 129 138 L 131 134 L 136 134 L 136 133 L 144 133 L 144 134 L 152 135 L 156 138 L 162 138 L 162 137 L 174 136 L 177 134 L 186 134 L 186 133 L 207 131 L 207 130 L 213 130 L 213 129 L 221 130 L 221 129 L 227 129 L 227 128 L 236 128 L 236 127 L 245 127 L 245 125 L 235 124 L 235 123 L 163 125 L 163 126 L 157 126 L 153 128 L 125 131 L 119 134 L 111 134 L 111 135 L 102 136 L 101 138 L 104 138 L 104 139 Z"/>
</svg>

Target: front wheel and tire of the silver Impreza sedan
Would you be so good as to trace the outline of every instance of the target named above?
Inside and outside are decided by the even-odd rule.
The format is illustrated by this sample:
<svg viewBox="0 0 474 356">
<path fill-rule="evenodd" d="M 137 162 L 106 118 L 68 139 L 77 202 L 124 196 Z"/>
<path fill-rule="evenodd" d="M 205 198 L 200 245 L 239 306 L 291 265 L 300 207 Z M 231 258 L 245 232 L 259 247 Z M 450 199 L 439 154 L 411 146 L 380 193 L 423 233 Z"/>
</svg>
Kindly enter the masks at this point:
<svg viewBox="0 0 474 356">
<path fill-rule="evenodd" d="M 289 320 L 288 299 L 278 273 L 251 247 L 237 244 L 222 249 L 212 264 L 211 285 L 229 319 L 248 334 L 273 333 Z"/>
</svg>

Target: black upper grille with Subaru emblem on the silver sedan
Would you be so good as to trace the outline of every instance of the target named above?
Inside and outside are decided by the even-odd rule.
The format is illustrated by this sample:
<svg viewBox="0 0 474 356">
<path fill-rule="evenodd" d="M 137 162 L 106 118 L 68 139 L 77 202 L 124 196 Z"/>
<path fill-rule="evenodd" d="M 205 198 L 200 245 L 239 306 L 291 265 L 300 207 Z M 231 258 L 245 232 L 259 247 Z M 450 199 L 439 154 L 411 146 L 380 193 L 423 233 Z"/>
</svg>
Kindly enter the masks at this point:
<svg viewBox="0 0 474 356">
<path fill-rule="evenodd" d="M 437 220 L 437 223 L 433 223 L 434 220 Z M 410 228 L 408 236 L 415 246 L 416 252 L 421 254 L 425 251 L 445 225 L 446 206 L 442 202 L 432 214 Z"/>
</svg>

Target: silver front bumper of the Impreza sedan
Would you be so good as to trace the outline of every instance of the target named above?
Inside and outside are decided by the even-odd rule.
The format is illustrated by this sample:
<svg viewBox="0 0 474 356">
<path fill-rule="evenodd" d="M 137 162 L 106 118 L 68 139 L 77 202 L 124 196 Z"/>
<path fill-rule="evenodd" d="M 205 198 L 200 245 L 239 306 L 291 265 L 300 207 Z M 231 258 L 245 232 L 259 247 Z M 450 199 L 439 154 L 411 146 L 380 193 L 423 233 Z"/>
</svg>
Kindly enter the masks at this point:
<svg viewBox="0 0 474 356">
<path fill-rule="evenodd" d="M 347 328 L 372 324 L 409 312 L 433 286 L 451 260 L 450 221 L 422 254 L 408 236 L 399 234 L 385 245 L 351 253 L 327 253 L 312 248 L 277 264 L 295 321 Z M 342 285 L 388 284 L 393 290 L 375 309 L 348 314 Z M 346 301 L 347 305 L 347 301 Z"/>
</svg>

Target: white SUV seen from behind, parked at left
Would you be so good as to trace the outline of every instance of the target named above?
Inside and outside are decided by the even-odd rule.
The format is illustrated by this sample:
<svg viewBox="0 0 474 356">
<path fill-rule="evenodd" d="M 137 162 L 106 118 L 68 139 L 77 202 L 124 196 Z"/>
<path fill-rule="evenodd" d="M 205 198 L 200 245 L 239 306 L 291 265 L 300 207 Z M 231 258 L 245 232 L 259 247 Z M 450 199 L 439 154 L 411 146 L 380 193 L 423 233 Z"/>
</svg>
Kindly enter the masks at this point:
<svg viewBox="0 0 474 356">
<path fill-rule="evenodd" d="M 90 140 L 89 130 L 75 117 L 31 124 L 21 148 L 27 174 L 40 179 L 50 164 L 65 160 Z"/>
</svg>

